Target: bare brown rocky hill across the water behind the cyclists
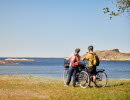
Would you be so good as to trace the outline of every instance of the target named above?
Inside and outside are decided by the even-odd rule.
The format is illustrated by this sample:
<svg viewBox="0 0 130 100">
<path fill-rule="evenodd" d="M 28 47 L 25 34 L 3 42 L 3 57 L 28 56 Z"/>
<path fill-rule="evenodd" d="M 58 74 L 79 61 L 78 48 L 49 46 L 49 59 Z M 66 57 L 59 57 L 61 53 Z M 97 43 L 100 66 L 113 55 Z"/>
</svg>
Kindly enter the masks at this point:
<svg viewBox="0 0 130 100">
<path fill-rule="evenodd" d="M 121 53 L 118 49 L 95 51 L 100 60 L 104 61 L 130 61 L 130 53 Z M 82 56 L 84 58 L 86 54 Z"/>
</svg>

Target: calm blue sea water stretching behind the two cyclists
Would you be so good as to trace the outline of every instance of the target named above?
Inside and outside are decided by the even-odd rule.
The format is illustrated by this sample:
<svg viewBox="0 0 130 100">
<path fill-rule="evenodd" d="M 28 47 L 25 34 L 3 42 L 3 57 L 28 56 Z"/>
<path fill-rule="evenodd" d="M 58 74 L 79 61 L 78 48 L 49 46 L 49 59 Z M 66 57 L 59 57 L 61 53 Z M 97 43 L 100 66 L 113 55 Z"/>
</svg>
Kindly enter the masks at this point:
<svg viewBox="0 0 130 100">
<path fill-rule="evenodd" d="M 2 60 L 4 58 L 0 58 Z M 62 78 L 63 58 L 32 58 L 36 62 L 20 65 L 0 65 L 0 75 L 33 75 Z M 130 61 L 101 61 L 98 69 L 105 69 L 109 79 L 130 79 Z"/>
</svg>

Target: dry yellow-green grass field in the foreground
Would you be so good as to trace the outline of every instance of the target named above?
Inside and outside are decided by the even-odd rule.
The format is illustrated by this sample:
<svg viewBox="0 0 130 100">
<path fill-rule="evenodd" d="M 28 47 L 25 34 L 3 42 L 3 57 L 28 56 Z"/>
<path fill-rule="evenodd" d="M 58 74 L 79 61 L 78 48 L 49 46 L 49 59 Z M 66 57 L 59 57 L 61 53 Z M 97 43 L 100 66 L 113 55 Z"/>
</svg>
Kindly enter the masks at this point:
<svg viewBox="0 0 130 100">
<path fill-rule="evenodd" d="M 62 79 L 0 76 L 0 100 L 130 100 L 130 80 L 109 80 L 105 88 L 63 86 Z"/>
</svg>

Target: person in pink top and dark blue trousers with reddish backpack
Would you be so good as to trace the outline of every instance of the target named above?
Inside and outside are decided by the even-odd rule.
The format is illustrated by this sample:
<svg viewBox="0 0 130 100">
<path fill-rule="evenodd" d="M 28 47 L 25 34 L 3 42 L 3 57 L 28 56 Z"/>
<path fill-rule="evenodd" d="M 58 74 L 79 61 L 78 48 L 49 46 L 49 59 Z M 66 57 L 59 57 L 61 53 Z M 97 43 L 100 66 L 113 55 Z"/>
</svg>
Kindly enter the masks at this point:
<svg viewBox="0 0 130 100">
<path fill-rule="evenodd" d="M 73 75 L 73 87 L 76 85 L 76 73 L 78 71 L 78 62 L 80 60 L 80 55 L 79 55 L 80 49 L 76 48 L 75 53 L 73 53 L 69 58 L 65 58 L 66 60 L 70 60 L 70 65 L 69 65 L 69 71 L 68 71 L 68 79 L 65 84 L 65 86 L 69 86 L 71 82 L 71 77 Z"/>
</svg>

